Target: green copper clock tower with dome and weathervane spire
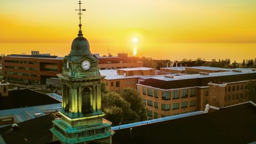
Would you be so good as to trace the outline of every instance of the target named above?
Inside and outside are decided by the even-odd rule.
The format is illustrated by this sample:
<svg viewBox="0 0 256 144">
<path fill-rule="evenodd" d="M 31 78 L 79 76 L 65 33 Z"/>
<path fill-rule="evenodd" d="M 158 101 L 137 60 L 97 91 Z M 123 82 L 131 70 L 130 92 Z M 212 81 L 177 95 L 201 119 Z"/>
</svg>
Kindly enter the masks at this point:
<svg viewBox="0 0 256 144">
<path fill-rule="evenodd" d="M 111 123 L 104 121 L 101 111 L 101 79 L 98 59 L 92 55 L 89 42 L 81 30 L 79 1 L 78 37 L 71 44 L 69 55 L 63 58 L 61 119 L 53 121 L 53 141 L 61 143 L 111 143 Z"/>
</svg>

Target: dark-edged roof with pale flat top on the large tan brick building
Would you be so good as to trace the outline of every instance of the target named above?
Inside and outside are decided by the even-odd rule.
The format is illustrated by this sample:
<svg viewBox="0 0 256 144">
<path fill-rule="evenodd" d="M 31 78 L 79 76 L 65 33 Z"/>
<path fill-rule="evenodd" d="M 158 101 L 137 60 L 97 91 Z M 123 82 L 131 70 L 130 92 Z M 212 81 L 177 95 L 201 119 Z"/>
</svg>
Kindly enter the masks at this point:
<svg viewBox="0 0 256 144">
<path fill-rule="evenodd" d="M 171 77 L 171 76 L 170 76 Z M 179 75 L 169 78 L 166 76 L 158 76 L 146 79 L 138 85 L 146 85 L 163 90 L 180 89 L 184 87 L 208 86 L 209 82 L 234 83 L 249 81 L 255 79 L 256 72 L 250 70 L 242 70 L 241 73 L 234 71 L 226 71 L 220 73 L 210 73 L 209 75 Z"/>
</svg>

